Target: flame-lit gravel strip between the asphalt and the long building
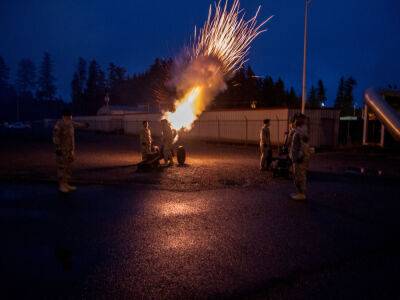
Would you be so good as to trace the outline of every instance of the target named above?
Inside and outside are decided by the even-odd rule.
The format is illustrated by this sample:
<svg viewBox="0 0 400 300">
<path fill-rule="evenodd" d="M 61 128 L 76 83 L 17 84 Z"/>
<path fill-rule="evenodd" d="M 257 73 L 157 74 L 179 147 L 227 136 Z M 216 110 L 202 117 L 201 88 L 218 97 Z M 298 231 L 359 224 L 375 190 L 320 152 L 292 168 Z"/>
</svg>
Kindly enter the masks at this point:
<svg viewBox="0 0 400 300">
<path fill-rule="evenodd" d="M 184 141 L 184 166 L 136 172 L 140 161 L 138 138 L 82 132 L 76 139 L 74 181 L 91 184 L 151 184 L 168 190 L 204 190 L 274 184 L 269 172 L 258 170 L 258 149 L 253 146 Z M 0 146 L 0 178 L 56 180 L 53 146 L 48 140 L 9 139 Z M 390 162 L 390 164 L 388 163 Z M 384 176 L 400 174 L 400 156 L 360 152 L 325 152 L 313 155 L 311 174 L 343 174 L 350 168 Z M 318 177 L 319 175 L 317 175 Z"/>
</svg>

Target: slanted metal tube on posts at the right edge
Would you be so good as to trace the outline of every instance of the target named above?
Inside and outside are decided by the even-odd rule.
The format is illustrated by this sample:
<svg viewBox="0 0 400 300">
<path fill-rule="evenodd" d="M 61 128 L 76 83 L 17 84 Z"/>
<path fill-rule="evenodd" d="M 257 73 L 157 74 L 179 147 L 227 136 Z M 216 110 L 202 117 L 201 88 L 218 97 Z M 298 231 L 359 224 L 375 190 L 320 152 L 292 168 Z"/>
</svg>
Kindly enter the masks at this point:
<svg viewBox="0 0 400 300">
<path fill-rule="evenodd" d="M 400 115 L 383 98 L 383 92 L 369 88 L 364 93 L 364 127 L 363 127 L 363 145 L 367 145 L 368 133 L 368 109 L 376 115 L 382 122 L 380 146 L 385 143 L 385 129 L 397 140 L 400 141 Z"/>
</svg>

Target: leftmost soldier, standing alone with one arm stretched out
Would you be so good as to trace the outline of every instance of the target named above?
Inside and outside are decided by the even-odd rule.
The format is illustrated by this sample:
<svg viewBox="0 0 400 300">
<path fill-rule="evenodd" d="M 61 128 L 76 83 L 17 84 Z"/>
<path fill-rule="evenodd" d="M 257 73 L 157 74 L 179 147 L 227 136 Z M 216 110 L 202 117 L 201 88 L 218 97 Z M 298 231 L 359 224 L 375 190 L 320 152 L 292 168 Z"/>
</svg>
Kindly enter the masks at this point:
<svg viewBox="0 0 400 300">
<path fill-rule="evenodd" d="M 53 143 L 56 151 L 58 189 L 62 193 L 76 190 L 75 186 L 69 185 L 71 178 L 71 164 L 74 161 L 75 151 L 75 128 L 87 128 L 88 123 L 77 123 L 72 121 L 71 111 L 68 109 L 62 113 L 62 118 L 57 121 L 53 129 Z"/>
</svg>

